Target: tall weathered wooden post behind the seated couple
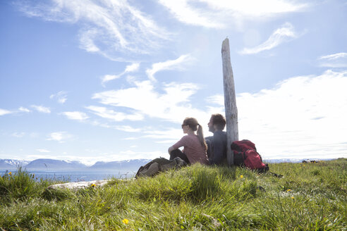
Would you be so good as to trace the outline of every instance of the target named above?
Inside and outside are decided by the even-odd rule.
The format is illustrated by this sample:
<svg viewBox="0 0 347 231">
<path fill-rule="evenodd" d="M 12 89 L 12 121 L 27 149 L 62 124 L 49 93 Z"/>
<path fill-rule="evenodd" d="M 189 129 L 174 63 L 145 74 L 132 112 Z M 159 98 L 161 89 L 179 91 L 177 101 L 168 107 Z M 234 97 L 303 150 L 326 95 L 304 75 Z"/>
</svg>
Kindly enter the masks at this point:
<svg viewBox="0 0 347 231">
<path fill-rule="evenodd" d="M 221 59 L 223 62 L 224 106 L 226 118 L 226 137 L 228 165 L 233 165 L 233 152 L 231 143 L 238 140 L 238 108 L 236 107 L 235 83 L 233 82 L 233 69 L 230 61 L 229 39 L 221 44 Z"/>
</svg>

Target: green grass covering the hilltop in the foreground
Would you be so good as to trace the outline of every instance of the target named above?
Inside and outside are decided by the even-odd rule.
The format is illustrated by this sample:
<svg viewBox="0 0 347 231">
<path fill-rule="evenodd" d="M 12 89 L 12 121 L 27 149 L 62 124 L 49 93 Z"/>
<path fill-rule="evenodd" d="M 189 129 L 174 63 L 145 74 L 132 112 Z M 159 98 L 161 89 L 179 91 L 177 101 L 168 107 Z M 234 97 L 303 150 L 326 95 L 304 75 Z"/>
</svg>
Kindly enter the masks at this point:
<svg viewBox="0 0 347 231">
<path fill-rule="evenodd" d="M 346 158 L 271 164 L 270 170 L 282 178 L 244 168 L 195 165 L 77 191 L 48 190 L 54 182 L 36 182 L 20 168 L 0 177 L 0 227 L 347 230 L 346 164 Z"/>
</svg>

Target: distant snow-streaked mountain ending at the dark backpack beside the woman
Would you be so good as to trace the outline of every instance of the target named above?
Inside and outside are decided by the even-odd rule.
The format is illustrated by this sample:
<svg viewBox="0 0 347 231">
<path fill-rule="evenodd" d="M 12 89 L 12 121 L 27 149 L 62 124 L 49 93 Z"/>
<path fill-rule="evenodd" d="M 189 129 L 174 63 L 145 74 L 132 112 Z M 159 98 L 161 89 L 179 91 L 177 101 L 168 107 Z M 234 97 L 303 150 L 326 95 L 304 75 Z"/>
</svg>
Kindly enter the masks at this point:
<svg viewBox="0 0 347 231">
<path fill-rule="evenodd" d="M 93 166 L 90 166 L 91 170 L 131 170 L 135 171 L 140 168 L 140 166 L 144 166 L 146 163 L 151 160 L 147 159 L 136 159 L 136 160 L 128 160 L 128 161 L 111 161 L 104 162 L 98 161 Z"/>
</svg>

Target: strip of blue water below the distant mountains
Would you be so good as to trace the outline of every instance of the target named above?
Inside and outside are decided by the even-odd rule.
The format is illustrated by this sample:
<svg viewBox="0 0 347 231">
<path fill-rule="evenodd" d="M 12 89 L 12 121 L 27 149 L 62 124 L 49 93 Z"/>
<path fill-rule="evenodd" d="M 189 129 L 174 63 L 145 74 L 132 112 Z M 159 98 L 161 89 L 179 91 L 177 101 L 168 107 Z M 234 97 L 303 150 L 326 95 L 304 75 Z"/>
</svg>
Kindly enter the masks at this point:
<svg viewBox="0 0 347 231">
<path fill-rule="evenodd" d="M 56 171 L 43 171 L 43 170 L 27 170 L 28 173 L 34 174 L 35 180 L 59 180 L 64 182 L 80 182 L 92 180 L 107 180 L 111 177 L 115 178 L 130 178 L 135 176 L 133 171 L 73 171 L 73 170 L 56 170 Z M 12 174 L 16 170 L 11 171 Z M 8 173 L 8 172 L 7 172 Z M 0 175 L 6 174 L 6 170 L 0 170 Z"/>
</svg>

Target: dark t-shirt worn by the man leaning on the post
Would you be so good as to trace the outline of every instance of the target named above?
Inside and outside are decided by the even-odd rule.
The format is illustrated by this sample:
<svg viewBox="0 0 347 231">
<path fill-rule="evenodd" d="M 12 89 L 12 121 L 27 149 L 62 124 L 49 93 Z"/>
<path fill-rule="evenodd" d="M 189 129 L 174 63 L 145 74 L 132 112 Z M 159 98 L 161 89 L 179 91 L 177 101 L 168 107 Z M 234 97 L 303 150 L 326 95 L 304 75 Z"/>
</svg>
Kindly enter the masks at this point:
<svg viewBox="0 0 347 231">
<path fill-rule="evenodd" d="M 226 163 L 226 132 L 216 131 L 212 137 L 206 137 L 209 164 Z"/>
</svg>

